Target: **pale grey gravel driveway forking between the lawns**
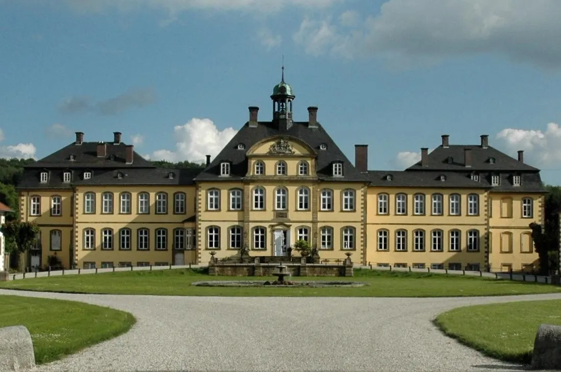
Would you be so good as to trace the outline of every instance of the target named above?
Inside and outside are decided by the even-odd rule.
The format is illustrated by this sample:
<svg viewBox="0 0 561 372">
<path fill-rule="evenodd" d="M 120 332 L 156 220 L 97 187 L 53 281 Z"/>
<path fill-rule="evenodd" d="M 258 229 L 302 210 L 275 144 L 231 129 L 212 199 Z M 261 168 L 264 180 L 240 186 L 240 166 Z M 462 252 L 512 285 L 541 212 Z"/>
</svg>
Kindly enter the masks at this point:
<svg viewBox="0 0 561 372">
<path fill-rule="evenodd" d="M 431 319 L 453 307 L 545 300 L 560 294 L 468 298 L 61 298 L 134 314 L 126 334 L 39 372 L 63 371 L 518 371 L 445 337 Z"/>
</svg>

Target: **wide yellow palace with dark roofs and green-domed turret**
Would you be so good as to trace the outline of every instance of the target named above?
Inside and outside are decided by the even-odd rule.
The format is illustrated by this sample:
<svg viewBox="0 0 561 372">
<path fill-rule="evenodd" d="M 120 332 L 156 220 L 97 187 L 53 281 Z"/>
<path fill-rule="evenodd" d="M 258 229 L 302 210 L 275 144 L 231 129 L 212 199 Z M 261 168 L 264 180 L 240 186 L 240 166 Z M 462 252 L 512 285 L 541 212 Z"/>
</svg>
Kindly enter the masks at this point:
<svg viewBox="0 0 561 372">
<path fill-rule="evenodd" d="M 41 230 L 28 268 L 206 264 L 247 247 L 287 255 L 303 239 L 321 260 L 471 270 L 537 265 L 528 225 L 544 222 L 540 171 L 493 148 L 447 135 L 403 171 L 370 171 L 367 145 L 354 164 L 308 108 L 294 121 L 282 81 L 272 120 L 247 121 L 204 169 L 164 169 L 132 145 L 76 140 L 25 167 L 20 217 Z M 270 117 L 268 118 L 270 119 Z M 297 255 L 297 253 L 295 253 Z"/>
</svg>

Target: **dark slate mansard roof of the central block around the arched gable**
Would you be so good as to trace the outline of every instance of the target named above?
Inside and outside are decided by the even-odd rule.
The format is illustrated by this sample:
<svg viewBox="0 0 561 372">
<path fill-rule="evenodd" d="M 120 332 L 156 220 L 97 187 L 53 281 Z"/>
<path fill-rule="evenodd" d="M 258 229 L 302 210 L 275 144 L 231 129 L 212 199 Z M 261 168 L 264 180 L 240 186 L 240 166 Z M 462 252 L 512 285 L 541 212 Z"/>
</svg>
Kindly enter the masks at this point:
<svg viewBox="0 0 561 372">
<path fill-rule="evenodd" d="M 317 127 L 309 127 L 308 122 L 296 121 L 288 130 L 279 130 L 276 122 L 260 121 L 256 127 L 250 127 L 249 122 L 246 122 L 209 166 L 195 177 L 195 181 L 242 180 L 247 174 L 248 167 L 246 151 L 259 141 L 273 136 L 286 136 L 288 139 L 296 137 L 314 149 L 318 164 L 316 173 L 320 180 L 368 182 L 366 174 L 359 172 L 353 166 L 320 123 L 317 123 Z M 238 144 L 243 144 L 245 149 L 238 149 Z M 321 144 L 327 145 L 327 149 L 320 150 Z M 224 161 L 232 164 L 229 177 L 220 176 L 220 163 Z M 332 164 L 337 161 L 343 163 L 343 177 L 332 176 Z"/>
</svg>

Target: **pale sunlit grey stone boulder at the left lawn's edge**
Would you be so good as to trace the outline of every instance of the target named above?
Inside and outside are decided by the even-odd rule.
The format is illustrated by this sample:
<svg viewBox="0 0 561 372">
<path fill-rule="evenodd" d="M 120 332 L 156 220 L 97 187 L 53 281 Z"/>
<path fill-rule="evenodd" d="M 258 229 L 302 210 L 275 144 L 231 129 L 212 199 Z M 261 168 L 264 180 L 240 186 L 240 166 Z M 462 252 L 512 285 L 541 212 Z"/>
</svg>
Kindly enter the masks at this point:
<svg viewBox="0 0 561 372">
<path fill-rule="evenodd" d="M 34 368 L 35 353 L 29 330 L 23 325 L 0 328 L 0 371 Z"/>
</svg>

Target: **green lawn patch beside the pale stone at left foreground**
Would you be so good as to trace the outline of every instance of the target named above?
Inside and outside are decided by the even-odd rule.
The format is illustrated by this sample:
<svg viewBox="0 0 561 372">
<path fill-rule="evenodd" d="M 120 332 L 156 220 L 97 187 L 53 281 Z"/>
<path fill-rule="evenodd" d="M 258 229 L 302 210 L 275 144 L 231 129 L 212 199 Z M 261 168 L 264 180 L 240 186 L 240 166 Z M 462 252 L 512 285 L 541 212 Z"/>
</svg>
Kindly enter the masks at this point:
<svg viewBox="0 0 561 372">
<path fill-rule="evenodd" d="M 136 319 L 125 311 L 75 301 L 0 295 L 0 327 L 25 325 L 35 362 L 61 359 L 127 332 Z"/>
</svg>

